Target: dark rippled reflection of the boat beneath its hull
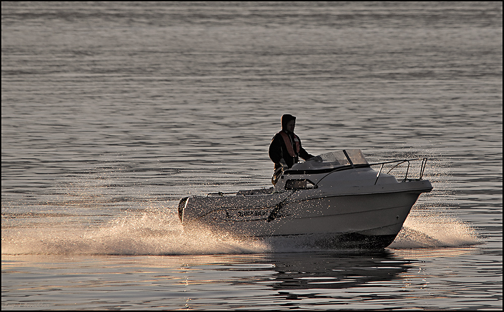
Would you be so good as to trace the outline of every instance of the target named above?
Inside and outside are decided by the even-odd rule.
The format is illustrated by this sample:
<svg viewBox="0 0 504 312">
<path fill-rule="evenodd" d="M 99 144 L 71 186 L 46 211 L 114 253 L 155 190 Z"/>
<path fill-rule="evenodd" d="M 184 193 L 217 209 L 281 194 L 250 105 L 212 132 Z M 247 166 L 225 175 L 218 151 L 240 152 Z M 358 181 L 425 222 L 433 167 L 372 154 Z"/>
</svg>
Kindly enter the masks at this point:
<svg viewBox="0 0 504 312">
<path fill-rule="evenodd" d="M 361 287 L 366 283 L 383 285 L 411 269 L 413 263 L 421 262 L 399 258 L 387 250 L 271 254 L 265 257 L 263 263 L 272 264 L 273 268 L 269 270 L 275 273 L 268 277 L 259 274 L 256 283 L 278 291 L 341 289 Z"/>
</svg>

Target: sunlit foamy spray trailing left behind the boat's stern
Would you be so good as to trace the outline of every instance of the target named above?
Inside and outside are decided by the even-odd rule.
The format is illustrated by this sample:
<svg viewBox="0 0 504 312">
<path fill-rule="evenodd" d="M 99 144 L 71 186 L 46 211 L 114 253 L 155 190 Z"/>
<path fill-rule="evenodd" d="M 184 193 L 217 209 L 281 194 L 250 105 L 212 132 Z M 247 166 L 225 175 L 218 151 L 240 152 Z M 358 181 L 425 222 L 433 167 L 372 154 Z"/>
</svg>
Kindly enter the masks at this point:
<svg viewBox="0 0 504 312">
<path fill-rule="evenodd" d="M 161 212 L 125 216 L 97 228 L 2 228 L 3 255 L 209 255 L 262 253 L 265 248 L 205 230 L 187 235 L 174 213 Z"/>
</svg>

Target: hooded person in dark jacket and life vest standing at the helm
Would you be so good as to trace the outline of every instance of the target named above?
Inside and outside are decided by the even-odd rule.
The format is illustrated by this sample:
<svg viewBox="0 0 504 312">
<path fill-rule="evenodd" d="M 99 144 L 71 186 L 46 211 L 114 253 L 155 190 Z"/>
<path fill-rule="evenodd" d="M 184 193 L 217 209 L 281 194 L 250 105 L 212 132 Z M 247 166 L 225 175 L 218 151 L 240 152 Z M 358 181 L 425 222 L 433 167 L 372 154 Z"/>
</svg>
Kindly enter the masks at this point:
<svg viewBox="0 0 504 312">
<path fill-rule="evenodd" d="M 277 133 L 271 140 L 269 155 L 275 163 L 275 173 L 280 168 L 290 168 L 299 162 L 299 157 L 304 160 L 314 157 L 308 154 L 301 146 L 301 139 L 294 134 L 296 117 L 285 114 L 282 116 L 282 131 Z"/>
</svg>

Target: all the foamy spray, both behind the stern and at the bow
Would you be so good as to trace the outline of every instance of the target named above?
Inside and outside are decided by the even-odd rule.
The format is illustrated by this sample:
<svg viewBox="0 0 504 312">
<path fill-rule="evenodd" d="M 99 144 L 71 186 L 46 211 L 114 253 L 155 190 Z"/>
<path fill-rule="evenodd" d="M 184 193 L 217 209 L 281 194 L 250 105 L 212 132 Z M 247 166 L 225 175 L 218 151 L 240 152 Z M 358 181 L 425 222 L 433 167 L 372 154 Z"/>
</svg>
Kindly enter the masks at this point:
<svg viewBox="0 0 504 312">
<path fill-rule="evenodd" d="M 2 228 L 3 255 L 218 255 L 320 251 L 303 237 L 243 240 L 201 229 L 184 233 L 174 212 L 148 211 L 97 227 L 44 225 Z M 389 246 L 439 248 L 480 243 L 474 229 L 452 217 L 415 215 Z"/>
</svg>

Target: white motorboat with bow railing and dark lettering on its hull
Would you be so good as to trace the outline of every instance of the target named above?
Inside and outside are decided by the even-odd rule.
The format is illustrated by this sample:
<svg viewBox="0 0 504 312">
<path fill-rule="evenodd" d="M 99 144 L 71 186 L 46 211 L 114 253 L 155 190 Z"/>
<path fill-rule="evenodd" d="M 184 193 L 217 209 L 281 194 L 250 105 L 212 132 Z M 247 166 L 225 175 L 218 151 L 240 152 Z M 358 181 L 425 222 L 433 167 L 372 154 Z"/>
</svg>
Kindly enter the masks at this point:
<svg viewBox="0 0 504 312">
<path fill-rule="evenodd" d="M 314 246 L 385 248 L 420 194 L 432 190 L 422 178 L 427 158 L 418 177 L 408 177 L 410 162 L 419 160 L 369 164 L 359 149 L 326 153 L 279 170 L 270 188 L 184 197 L 178 215 L 184 231 L 253 239 L 302 236 Z M 400 178 L 393 169 L 401 170 Z"/>
</svg>

